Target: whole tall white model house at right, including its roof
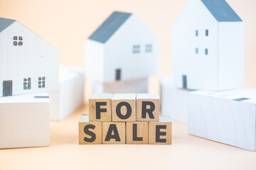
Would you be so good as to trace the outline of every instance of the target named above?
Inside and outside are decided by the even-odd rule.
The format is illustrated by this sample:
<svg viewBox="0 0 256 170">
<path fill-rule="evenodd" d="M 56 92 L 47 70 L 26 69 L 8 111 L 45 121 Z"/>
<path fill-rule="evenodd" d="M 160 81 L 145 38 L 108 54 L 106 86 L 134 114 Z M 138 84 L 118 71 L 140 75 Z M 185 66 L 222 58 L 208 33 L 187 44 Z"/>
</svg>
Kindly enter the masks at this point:
<svg viewBox="0 0 256 170">
<path fill-rule="evenodd" d="M 223 91 L 243 84 L 244 27 L 224 0 L 191 0 L 173 28 L 178 88 Z"/>
</svg>

